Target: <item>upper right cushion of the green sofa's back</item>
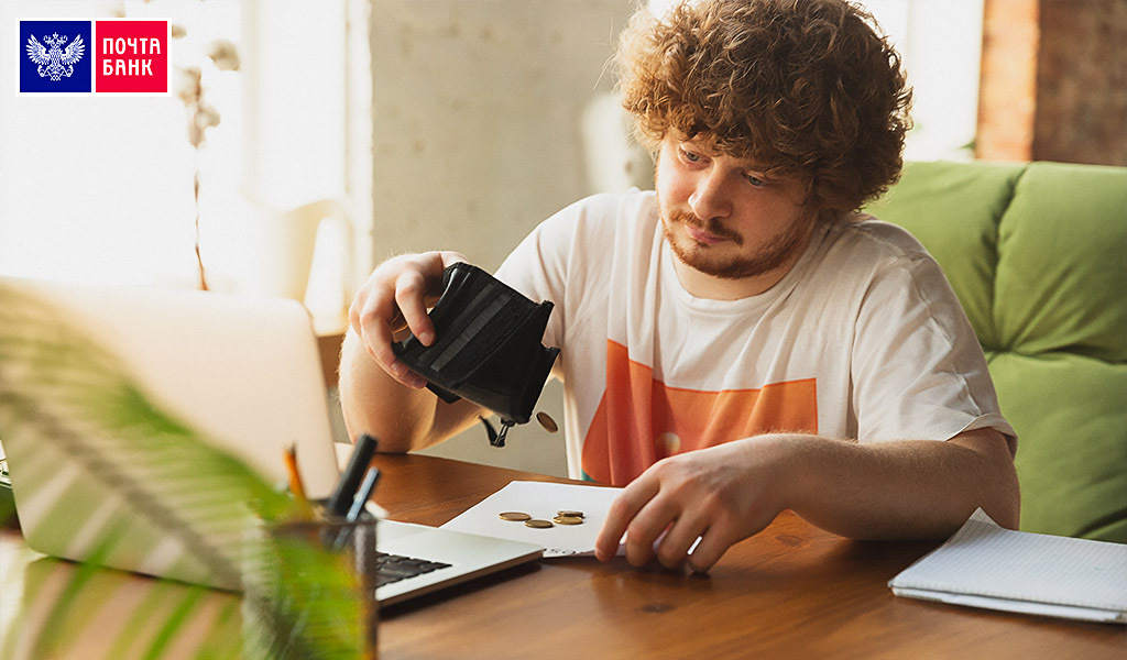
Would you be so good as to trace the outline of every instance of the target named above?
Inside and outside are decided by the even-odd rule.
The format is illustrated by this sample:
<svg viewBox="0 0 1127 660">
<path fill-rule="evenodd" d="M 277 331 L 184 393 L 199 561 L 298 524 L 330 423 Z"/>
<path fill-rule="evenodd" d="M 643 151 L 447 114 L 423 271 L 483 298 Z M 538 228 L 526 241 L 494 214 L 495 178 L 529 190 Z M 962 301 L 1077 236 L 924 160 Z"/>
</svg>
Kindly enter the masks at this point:
<svg viewBox="0 0 1127 660">
<path fill-rule="evenodd" d="M 1127 362 L 1127 168 L 1030 164 L 999 243 L 1002 348 Z"/>
</svg>

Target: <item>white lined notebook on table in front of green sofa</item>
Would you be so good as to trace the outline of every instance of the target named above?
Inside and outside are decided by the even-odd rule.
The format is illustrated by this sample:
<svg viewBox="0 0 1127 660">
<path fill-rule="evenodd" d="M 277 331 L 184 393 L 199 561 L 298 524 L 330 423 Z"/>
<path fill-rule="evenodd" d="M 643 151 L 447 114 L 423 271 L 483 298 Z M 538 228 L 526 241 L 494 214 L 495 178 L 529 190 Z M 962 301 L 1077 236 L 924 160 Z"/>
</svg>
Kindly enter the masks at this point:
<svg viewBox="0 0 1127 660">
<path fill-rule="evenodd" d="M 888 586 L 908 598 L 1127 623 L 1127 544 L 1003 529 L 978 509 Z"/>
</svg>

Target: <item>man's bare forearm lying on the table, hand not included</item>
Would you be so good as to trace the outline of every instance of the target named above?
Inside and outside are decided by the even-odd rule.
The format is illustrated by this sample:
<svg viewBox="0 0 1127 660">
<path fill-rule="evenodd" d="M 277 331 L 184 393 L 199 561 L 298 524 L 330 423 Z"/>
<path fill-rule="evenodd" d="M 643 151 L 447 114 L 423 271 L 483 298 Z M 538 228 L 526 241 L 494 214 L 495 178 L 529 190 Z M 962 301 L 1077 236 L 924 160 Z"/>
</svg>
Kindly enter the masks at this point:
<svg viewBox="0 0 1127 660">
<path fill-rule="evenodd" d="M 1020 494 L 1004 438 L 994 429 L 947 442 L 858 445 L 797 440 L 788 505 L 810 523 L 853 538 L 938 538 L 977 507 L 1017 528 Z"/>
</svg>

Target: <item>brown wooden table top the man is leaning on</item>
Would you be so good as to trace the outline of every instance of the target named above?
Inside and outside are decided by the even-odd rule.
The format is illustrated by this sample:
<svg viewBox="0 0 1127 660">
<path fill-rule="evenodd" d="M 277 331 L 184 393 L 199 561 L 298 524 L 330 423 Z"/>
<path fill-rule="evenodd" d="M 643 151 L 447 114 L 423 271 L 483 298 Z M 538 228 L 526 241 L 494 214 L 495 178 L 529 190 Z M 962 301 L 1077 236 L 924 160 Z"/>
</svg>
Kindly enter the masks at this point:
<svg viewBox="0 0 1127 660">
<path fill-rule="evenodd" d="M 379 456 L 379 502 L 394 519 L 440 525 L 514 479 L 553 478 L 428 456 Z M 3 618 L 39 607 L 12 594 L 28 563 L 18 536 L 0 537 Z M 893 596 L 888 580 L 935 543 L 859 543 L 784 512 L 737 544 L 707 576 L 635 569 L 624 559 L 543 560 L 381 613 L 380 658 L 1115 658 L 1127 657 L 1127 626 L 995 613 Z M 51 562 L 51 570 L 77 570 Z M 29 562 L 35 564 L 36 562 Z M 109 571 L 106 571 L 109 572 Z M 116 574 L 119 577 L 121 574 Z M 42 582 L 42 577 L 25 578 Z M 121 578 L 135 589 L 152 580 Z M 21 587 L 20 587 L 21 588 Z M 127 603 L 127 598 L 122 597 Z M 153 600 L 137 596 L 139 603 Z M 208 592 L 195 626 L 216 650 L 238 649 L 238 598 Z M 45 606 L 44 606 L 45 607 Z M 123 606 L 124 607 L 124 606 Z M 140 606 L 139 606 L 140 607 Z M 118 608 L 117 619 L 142 621 Z M 234 624 L 231 624 L 234 613 Z M 98 641 L 98 626 L 70 615 Z M 64 616 L 55 625 L 65 625 Z M 24 623 L 32 625 L 27 617 Z M 12 634 L 10 622 L 3 631 Z M 150 627 L 158 627 L 156 624 Z M 143 636 L 144 631 L 136 633 Z M 157 634 L 157 633 L 151 633 Z M 225 640 L 232 636 L 234 640 Z M 5 657 L 10 654 L 3 642 Z M 101 646 L 99 646 L 99 643 Z M 116 644 L 121 646 L 121 641 Z M 172 640 L 160 657 L 196 657 Z M 181 651 L 181 648 L 184 649 Z M 119 655 L 115 655 L 119 657 Z M 205 655 L 206 657 L 206 655 Z"/>
</svg>

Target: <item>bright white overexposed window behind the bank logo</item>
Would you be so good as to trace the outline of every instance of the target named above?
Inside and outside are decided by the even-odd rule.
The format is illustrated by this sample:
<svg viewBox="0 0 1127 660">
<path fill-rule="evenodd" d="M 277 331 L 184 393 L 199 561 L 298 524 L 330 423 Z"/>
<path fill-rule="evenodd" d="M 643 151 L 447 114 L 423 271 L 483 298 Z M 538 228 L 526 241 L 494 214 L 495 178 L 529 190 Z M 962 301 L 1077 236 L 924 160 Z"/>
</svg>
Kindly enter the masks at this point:
<svg viewBox="0 0 1127 660">
<path fill-rule="evenodd" d="M 267 209 L 323 198 L 345 206 L 356 198 L 363 208 L 364 2 L 17 0 L 0 6 L 0 29 L 15 30 L 19 19 L 115 16 L 184 28 L 171 39 L 170 66 L 202 70 L 220 123 L 194 150 L 175 71 L 169 96 L 16 95 L 16 50 L 3 48 L 0 274 L 193 286 L 197 168 L 203 259 L 220 291 L 247 282 L 260 247 L 252 221 Z M 238 71 L 208 60 L 214 39 L 236 44 Z"/>
</svg>

